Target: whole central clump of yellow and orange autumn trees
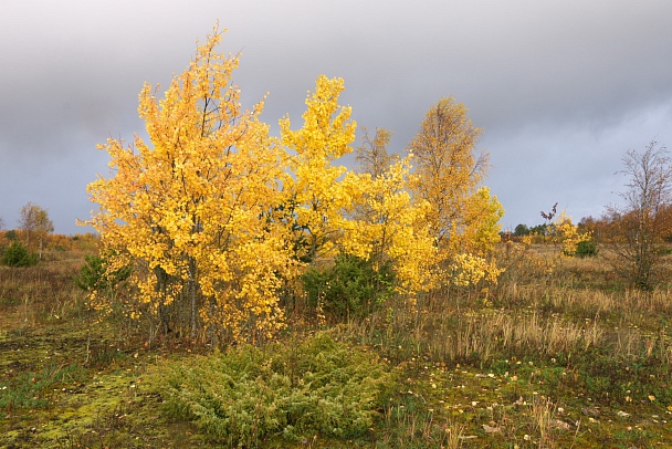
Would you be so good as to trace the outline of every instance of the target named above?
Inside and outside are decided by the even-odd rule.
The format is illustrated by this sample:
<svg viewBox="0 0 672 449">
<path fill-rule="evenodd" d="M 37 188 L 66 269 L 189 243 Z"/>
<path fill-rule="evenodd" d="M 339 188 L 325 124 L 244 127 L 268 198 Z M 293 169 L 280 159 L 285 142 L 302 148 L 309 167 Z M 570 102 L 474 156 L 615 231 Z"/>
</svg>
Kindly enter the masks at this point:
<svg viewBox="0 0 672 449">
<path fill-rule="evenodd" d="M 480 130 L 462 104 L 434 105 L 406 157 L 365 140 L 363 160 L 384 163 L 350 170 L 336 165 L 357 129 L 338 104 L 343 80 L 319 76 L 303 125 L 285 116 L 272 136 L 265 98 L 242 108 L 239 59 L 216 52 L 221 38 L 214 30 L 197 46 L 162 98 L 144 86 L 149 142 L 99 145 L 111 173 L 88 186 L 99 208 L 85 224 L 101 234 L 108 272 L 134 268 L 138 311 L 186 337 L 255 342 L 284 326 L 302 273 L 338 254 L 391 267 L 408 302 L 496 279 L 503 209 L 482 186 L 487 157 L 474 154 Z"/>
</svg>

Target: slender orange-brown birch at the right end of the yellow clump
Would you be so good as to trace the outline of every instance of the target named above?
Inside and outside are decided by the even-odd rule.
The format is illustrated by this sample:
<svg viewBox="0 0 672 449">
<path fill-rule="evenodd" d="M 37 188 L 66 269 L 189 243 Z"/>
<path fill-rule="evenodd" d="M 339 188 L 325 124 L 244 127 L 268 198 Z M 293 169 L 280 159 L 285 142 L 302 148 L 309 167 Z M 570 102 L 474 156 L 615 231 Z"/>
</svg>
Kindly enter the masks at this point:
<svg viewBox="0 0 672 449">
<path fill-rule="evenodd" d="M 481 129 L 466 112 L 454 98 L 441 98 L 409 145 L 417 166 L 411 191 L 430 203 L 427 226 L 438 248 L 438 281 L 462 285 L 496 279 L 498 271 L 486 254 L 498 241 L 497 221 L 504 213 L 496 197 L 481 186 L 487 154 L 476 153 Z"/>
</svg>

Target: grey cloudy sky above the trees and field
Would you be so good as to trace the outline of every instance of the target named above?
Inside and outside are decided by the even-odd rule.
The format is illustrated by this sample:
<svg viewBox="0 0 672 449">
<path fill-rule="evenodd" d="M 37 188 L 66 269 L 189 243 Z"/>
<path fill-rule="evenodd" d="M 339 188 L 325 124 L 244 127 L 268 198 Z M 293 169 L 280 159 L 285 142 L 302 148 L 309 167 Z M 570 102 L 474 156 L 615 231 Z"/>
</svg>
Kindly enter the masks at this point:
<svg viewBox="0 0 672 449">
<path fill-rule="evenodd" d="M 503 224 L 537 224 L 554 202 L 576 220 L 621 190 L 621 157 L 672 147 L 669 0 L 4 0 L 0 13 L 0 217 L 32 201 L 56 232 L 87 231 L 95 149 L 141 133 L 145 81 L 167 86 L 217 20 L 220 51 L 262 118 L 301 124 L 319 74 L 342 76 L 358 124 L 401 152 L 427 109 L 451 95 L 484 129 L 486 181 Z M 277 129 L 277 126 L 275 126 Z"/>
</svg>

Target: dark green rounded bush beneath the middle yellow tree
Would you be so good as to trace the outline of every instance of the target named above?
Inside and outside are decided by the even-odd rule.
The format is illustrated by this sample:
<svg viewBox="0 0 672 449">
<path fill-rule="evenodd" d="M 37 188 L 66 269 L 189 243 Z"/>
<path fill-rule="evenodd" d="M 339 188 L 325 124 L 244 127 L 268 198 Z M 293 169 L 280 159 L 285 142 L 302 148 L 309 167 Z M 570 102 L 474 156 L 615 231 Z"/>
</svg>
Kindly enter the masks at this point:
<svg viewBox="0 0 672 449">
<path fill-rule="evenodd" d="M 395 273 L 389 262 L 376 269 L 370 259 L 339 254 L 333 267 L 311 268 L 302 280 L 313 306 L 321 302 L 325 312 L 346 319 L 367 316 L 389 297 Z"/>
</svg>

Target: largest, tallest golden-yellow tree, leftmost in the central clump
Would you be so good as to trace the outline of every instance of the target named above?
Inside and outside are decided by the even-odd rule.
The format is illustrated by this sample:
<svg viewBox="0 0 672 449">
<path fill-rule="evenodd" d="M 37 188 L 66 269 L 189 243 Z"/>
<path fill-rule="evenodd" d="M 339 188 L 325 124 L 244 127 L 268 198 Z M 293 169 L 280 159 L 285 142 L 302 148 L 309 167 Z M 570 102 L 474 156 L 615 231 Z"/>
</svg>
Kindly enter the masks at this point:
<svg viewBox="0 0 672 449">
<path fill-rule="evenodd" d="M 239 58 L 216 52 L 217 29 L 162 98 L 146 84 L 138 112 L 149 143 L 108 139 L 111 176 L 88 186 L 111 270 L 134 284 L 165 330 L 255 338 L 283 325 L 277 289 L 292 276 L 286 233 L 266 213 L 286 176 L 282 152 L 231 83 Z"/>
</svg>

